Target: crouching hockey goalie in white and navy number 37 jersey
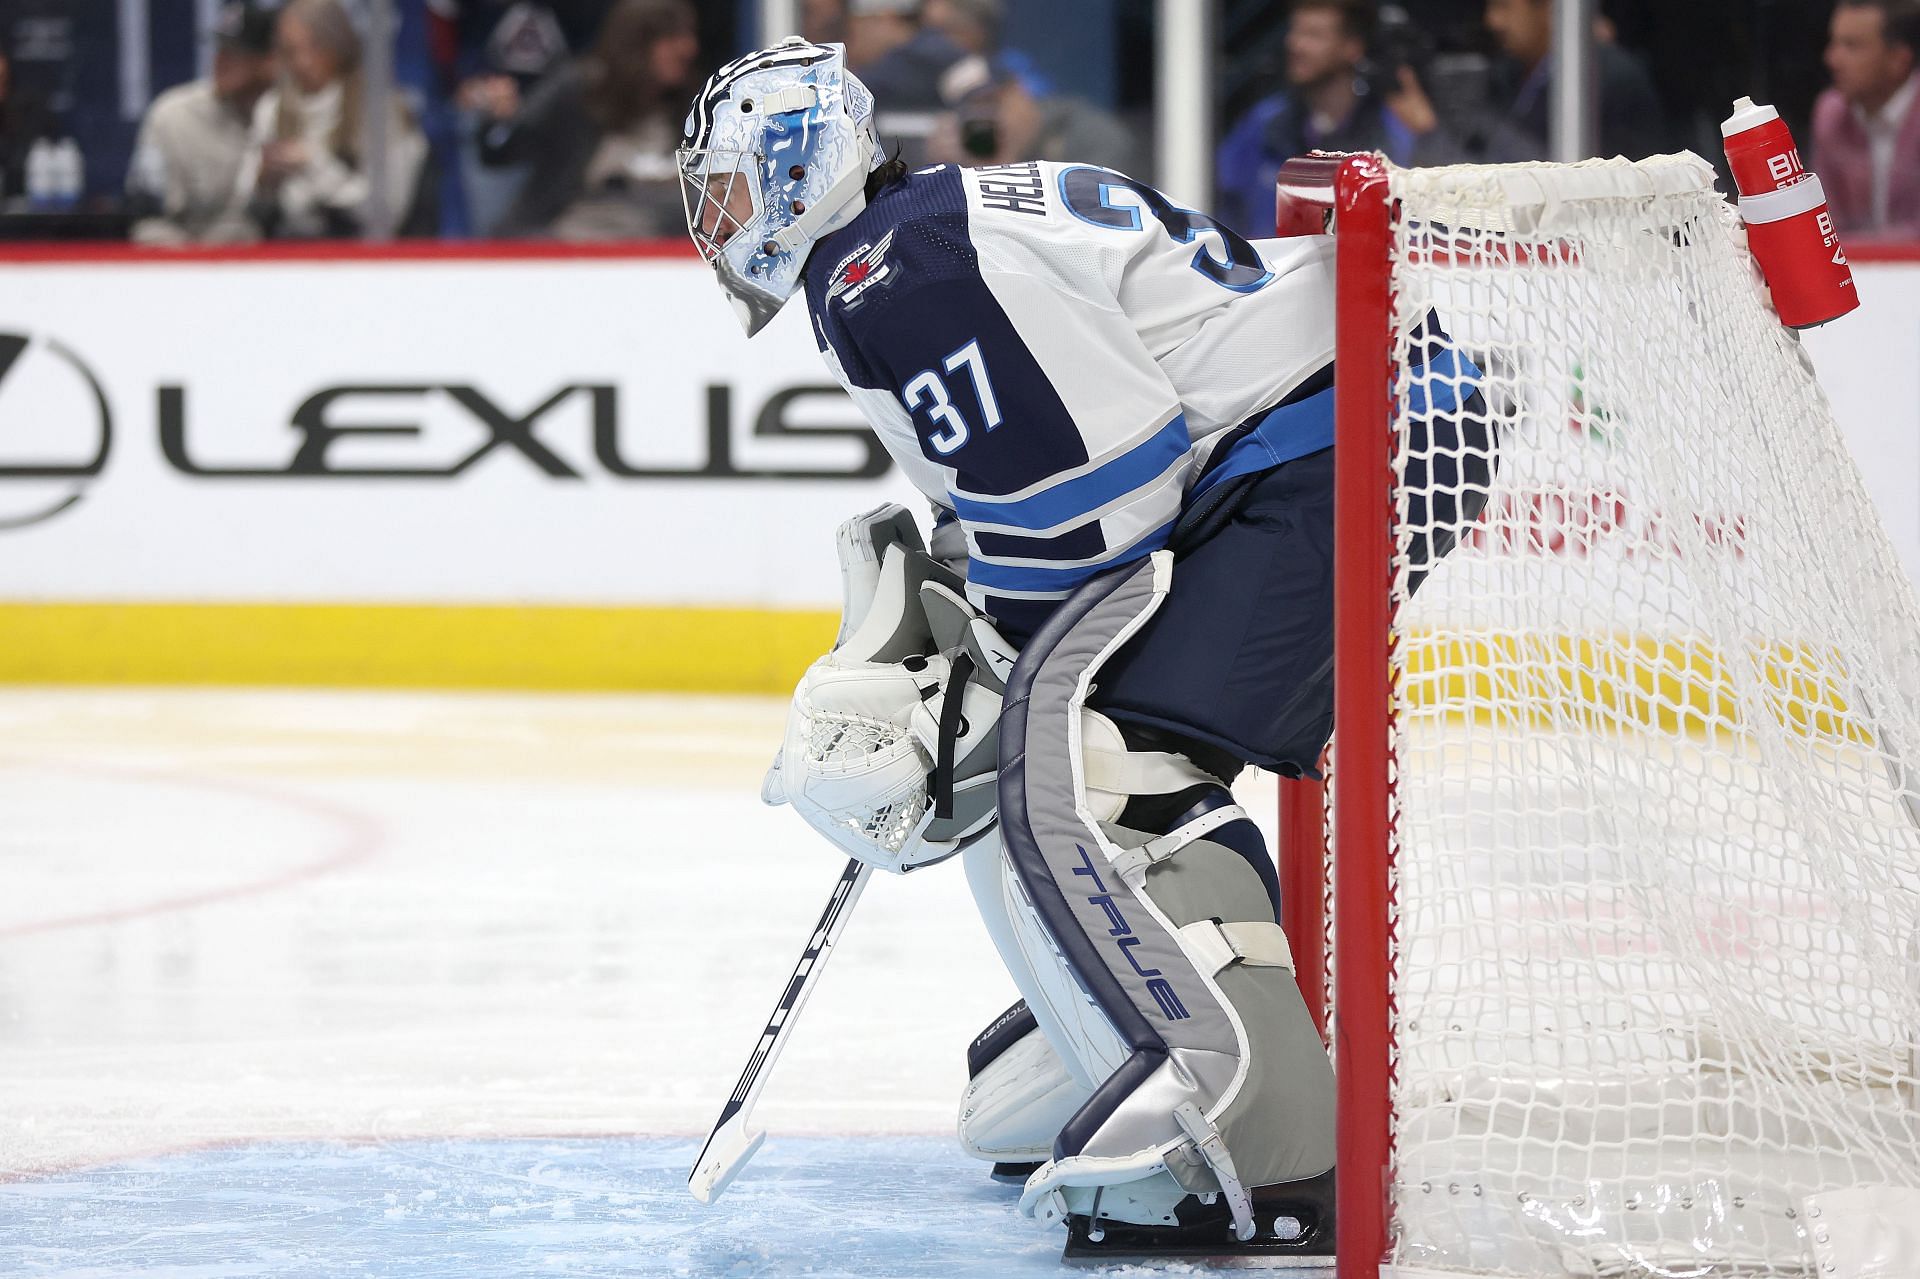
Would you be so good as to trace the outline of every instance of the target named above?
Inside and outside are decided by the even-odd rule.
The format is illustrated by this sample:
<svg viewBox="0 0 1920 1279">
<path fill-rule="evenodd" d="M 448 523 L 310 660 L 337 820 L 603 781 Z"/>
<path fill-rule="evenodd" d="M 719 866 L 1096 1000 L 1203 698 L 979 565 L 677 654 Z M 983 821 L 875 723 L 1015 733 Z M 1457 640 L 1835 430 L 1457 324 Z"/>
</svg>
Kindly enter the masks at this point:
<svg viewBox="0 0 1920 1279">
<path fill-rule="evenodd" d="M 960 1143 L 1023 1212 L 1087 1250 L 1325 1252 L 1332 1072 L 1229 784 L 1332 728 L 1331 240 L 1091 165 L 908 173 L 872 117 L 793 38 L 722 67 L 680 150 L 747 334 L 804 292 L 933 507 L 927 542 L 899 507 L 841 528 L 768 797 L 883 870 L 962 860 L 1023 1001 Z M 1421 367 L 1411 451 L 1463 474 L 1409 488 L 1484 492 L 1478 371 L 1432 319 Z M 1411 522 L 1444 553 L 1473 515 Z"/>
</svg>

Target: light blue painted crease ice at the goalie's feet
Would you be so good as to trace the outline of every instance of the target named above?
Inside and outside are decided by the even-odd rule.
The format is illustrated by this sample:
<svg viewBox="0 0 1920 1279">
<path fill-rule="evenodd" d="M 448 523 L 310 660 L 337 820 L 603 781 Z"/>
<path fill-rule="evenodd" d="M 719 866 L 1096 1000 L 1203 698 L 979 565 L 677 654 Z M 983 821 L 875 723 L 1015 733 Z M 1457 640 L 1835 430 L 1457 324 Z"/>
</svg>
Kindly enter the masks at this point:
<svg viewBox="0 0 1920 1279">
<path fill-rule="evenodd" d="M 403 1141 L 179 1154 L 0 1187 L 0 1273 L 1058 1275 L 1060 1233 L 933 1137 L 770 1139 L 712 1208 L 693 1141 Z M 1190 1266 L 1116 1267 L 1194 1273 Z M 1085 1273 L 1085 1271 L 1077 1271 Z"/>
</svg>

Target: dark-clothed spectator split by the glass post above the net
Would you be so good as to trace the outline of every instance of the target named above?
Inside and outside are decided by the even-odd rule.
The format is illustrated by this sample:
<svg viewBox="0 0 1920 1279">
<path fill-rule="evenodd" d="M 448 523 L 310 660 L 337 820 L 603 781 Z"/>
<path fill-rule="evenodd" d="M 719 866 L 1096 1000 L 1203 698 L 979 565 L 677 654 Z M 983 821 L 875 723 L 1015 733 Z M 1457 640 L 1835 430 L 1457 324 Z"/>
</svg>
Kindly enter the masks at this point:
<svg viewBox="0 0 1920 1279">
<path fill-rule="evenodd" d="M 1553 100 L 1553 0 L 1486 0 L 1486 29 L 1507 61 L 1494 67 L 1494 102 L 1503 119 L 1484 134 L 1486 159 L 1546 159 Z M 1632 54 L 1596 27 L 1599 73 L 1599 154 L 1640 159 L 1665 152 L 1667 119 L 1653 79 Z"/>
</svg>

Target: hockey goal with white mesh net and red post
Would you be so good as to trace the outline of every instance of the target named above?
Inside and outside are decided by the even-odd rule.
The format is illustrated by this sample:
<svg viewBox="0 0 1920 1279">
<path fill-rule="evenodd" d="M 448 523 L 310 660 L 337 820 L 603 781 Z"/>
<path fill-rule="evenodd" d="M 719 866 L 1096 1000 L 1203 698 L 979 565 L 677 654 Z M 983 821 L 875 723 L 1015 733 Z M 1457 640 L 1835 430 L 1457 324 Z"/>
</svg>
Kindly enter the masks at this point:
<svg viewBox="0 0 1920 1279">
<path fill-rule="evenodd" d="M 1920 1221 L 1920 613 L 1711 169 L 1281 190 L 1340 255 L 1342 1275 L 1920 1273 L 1859 1260 Z M 1444 557 L 1430 311 L 1498 436 Z"/>
</svg>

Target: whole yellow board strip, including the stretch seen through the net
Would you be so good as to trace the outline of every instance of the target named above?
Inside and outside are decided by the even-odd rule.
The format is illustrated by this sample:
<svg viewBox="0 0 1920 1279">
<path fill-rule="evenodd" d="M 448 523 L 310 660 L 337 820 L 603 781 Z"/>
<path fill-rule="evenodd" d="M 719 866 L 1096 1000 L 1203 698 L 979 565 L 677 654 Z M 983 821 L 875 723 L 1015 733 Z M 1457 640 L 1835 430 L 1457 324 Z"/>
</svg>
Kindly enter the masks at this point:
<svg viewBox="0 0 1920 1279">
<path fill-rule="evenodd" d="M 776 609 L 0 603 L 4 684 L 787 693 L 839 618 Z M 1402 636 L 1404 709 L 1448 720 L 1866 745 L 1839 653 L 1551 632 Z"/>
</svg>

